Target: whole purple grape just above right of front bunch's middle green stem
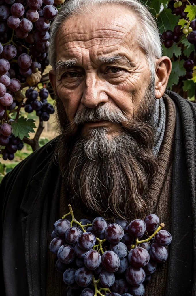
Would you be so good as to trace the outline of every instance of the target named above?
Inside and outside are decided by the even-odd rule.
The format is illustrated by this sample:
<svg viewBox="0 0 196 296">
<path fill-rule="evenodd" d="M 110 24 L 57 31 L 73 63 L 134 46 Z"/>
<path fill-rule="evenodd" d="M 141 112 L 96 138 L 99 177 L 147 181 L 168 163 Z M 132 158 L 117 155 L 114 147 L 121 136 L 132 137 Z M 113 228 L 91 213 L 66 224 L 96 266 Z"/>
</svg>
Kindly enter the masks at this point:
<svg viewBox="0 0 196 296">
<path fill-rule="evenodd" d="M 124 230 L 120 225 L 113 223 L 106 227 L 104 234 L 108 242 L 117 244 L 118 242 L 121 241 L 124 235 Z"/>
</svg>

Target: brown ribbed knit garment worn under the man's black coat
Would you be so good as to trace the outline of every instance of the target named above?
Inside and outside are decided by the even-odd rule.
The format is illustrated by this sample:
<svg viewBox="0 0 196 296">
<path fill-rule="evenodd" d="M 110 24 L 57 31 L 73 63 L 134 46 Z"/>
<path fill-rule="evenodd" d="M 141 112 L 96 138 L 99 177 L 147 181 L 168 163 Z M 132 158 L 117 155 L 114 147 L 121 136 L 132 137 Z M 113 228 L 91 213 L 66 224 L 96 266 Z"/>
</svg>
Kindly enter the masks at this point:
<svg viewBox="0 0 196 296">
<path fill-rule="evenodd" d="M 171 229 L 171 181 L 172 163 L 174 152 L 174 129 L 175 129 L 175 105 L 168 95 L 164 94 L 166 105 L 166 126 L 164 139 L 158 154 L 159 169 L 154 183 L 150 188 L 147 203 L 149 213 L 158 215 L 160 222 L 165 223 L 165 229 Z M 68 213 L 69 200 L 66 185 L 62 183 L 59 218 Z M 93 220 L 95 217 L 89 216 L 79 208 L 74 208 L 75 218 L 88 218 Z M 48 246 L 51 241 L 51 233 L 48 235 Z M 168 248 L 169 249 L 169 248 Z M 169 250 L 168 250 L 169 251 Z M 63 282 L 62 274 L 55 270 L 56 256 L 48 248 L 48 273 L 47 273 L 47 296 L 66 296 L 66 285 Z M 167 261 L 161 268 L 158 268 L 152 275 L 150 282 L 146 285 L 145 296 L 164 296 L 166 288 Z"/>
</svg>

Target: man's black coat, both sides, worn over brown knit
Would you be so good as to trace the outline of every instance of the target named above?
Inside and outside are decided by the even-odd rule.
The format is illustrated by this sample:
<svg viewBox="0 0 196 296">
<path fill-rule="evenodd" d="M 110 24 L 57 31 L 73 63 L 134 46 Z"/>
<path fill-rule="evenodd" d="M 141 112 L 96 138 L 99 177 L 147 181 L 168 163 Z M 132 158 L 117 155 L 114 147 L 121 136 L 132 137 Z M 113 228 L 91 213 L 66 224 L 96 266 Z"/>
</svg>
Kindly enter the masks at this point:
<svg viewBox="0 0 196 296">
<path fill-rule="evenodd" d="M 176 106 L 172 243 L 166 295 L 195 296 L 196 104 L 174 92 L 166 93 Z M 49 217 L 53 222 L 58 220 L 62 181 L 53 157 L 57 142 L 58 137 L 33 152 L 0 185 L 6 296 L 46 295 L 47 229 Z"/>
</svg>

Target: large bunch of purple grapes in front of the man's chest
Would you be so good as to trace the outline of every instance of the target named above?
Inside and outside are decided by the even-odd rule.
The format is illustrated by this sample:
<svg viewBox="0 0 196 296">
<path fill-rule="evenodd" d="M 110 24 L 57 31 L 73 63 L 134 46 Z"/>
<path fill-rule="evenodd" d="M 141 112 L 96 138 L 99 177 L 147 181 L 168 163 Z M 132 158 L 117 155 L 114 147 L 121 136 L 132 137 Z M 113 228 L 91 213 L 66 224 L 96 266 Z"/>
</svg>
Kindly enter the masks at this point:
<svg viewBox="0 0 196 296">
<path fill-rule="evenodd" d="M 171 243 L 171 234 L 161 229 L 164 224 L 159 226 L 157 215 L 130 223 L 97 217 L 91 223 L 77 221 L 69 208 L 55 222 L 50 242 L 67 295 L 143 296 L 151 274 L 166 261 L 166 246 Z"/>
</svg>

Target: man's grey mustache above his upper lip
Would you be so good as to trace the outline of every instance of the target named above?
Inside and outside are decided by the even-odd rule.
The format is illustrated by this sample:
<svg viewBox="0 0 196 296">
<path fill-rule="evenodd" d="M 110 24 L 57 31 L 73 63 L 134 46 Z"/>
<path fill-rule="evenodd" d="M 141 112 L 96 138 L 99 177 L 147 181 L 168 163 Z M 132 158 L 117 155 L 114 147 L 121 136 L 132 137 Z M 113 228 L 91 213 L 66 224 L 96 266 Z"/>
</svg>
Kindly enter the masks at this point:
<svg viewBox="0 0 196 296">
<path fill-rule="evenodd" d="M 94 108 L 84 106 L 77 112 L 73 123 L 79 126 L 85 122 L 97 120 L 108 120 L 113 123 L 122 123 L 128 121 L 128 118 L 119 108 L 103 104 Z"/>
</svg>

